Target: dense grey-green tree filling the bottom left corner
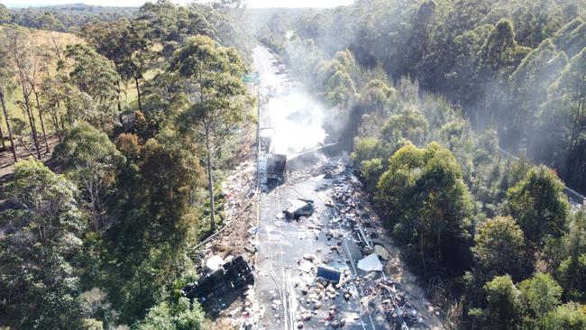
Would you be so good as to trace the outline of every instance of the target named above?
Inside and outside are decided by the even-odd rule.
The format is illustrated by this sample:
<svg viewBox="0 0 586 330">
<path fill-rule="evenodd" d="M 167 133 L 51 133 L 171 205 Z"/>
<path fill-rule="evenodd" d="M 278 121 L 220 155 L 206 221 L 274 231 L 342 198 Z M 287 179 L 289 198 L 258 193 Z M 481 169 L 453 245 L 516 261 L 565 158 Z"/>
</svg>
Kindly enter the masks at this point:
<svg viewBox="0 0 586 330">
<path fill-rule="evenodd" d="M 86 221 L 77 189 L 38 160 L 22 160 L 1 216 L 13 230 L 0 238 L 0 324 L 17 329 L 79 328 L 79 272 Z"/>
</svg>

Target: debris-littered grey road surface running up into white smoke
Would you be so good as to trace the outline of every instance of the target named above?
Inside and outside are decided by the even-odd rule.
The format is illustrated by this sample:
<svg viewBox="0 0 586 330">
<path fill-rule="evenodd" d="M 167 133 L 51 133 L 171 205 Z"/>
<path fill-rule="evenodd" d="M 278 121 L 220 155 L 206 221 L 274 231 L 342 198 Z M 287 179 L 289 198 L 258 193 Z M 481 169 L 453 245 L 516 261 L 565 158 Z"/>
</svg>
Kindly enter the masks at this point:
<svg viewBox="0 0 586 330">
<path fill-rule="evenodd" d="M 277 73 L 279 62 L 269 50 L 263 47 L 254 50 L 254 67 L 261 76 L 261 126 L 275 128 L 273 139 L 279 142 L 278 151 L 311 149 L 324 142 L 320 122 L 323 114 L 303 114 L 304 109 L 296 108 L 307 107 L 315 101 L 296 87 L 290 87 L 286 74 Z M 279 102 L 283 100 L 286 102 Z M 263 171 L 265 156 L 261 153 L 259 165 L 261 204 L 256 297 L 264 307 L 259 328 L 321 329 L 342 323 L 344 329 L 400 329 L 400 320 L 389 323 L 381 313 L 375 313 L 376 307 L 367 298 L 372 297 L 375 280 L 384 275 L 380 271 L 368 273 L 357 269 L 357 261 L 363 254 L 356 234 L 345 222 L 333 221 L 338 216 L 331 206 L 333 191 L 347 185 L 344 180 L 355 180 L 347 170 L 344 172 L 343 159 L 316 159 L 305 170 L 289 173 L 279 187 L 267 188 Z M 282 211 L 298 198 L 313 200 L 316 212 L 300 221 L 284 219 Z M 335 238 L 331 237 L 333 233 Z M 318 265 L 343 272 L 344 284 L 328 288 L 316 280 Z"/>
</svg>

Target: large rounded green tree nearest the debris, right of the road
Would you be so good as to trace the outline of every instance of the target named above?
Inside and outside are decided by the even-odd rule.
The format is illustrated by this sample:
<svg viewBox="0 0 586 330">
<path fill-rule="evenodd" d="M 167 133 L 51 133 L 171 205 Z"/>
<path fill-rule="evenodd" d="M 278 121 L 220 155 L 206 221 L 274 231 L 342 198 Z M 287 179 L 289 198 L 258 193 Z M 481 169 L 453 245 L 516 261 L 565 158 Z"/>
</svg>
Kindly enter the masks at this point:
<svg viewBox="0 0 586 330">
<path fill-rule="evenodd" d="M 385 224 L 399 242 L 417 247 L 424 266 L 432 261 L 457 271 L 466 263 L 472 202 L 452 152 L 435 142 L 399 149 L 380 177 L 375 201 Z"/>
</svg>

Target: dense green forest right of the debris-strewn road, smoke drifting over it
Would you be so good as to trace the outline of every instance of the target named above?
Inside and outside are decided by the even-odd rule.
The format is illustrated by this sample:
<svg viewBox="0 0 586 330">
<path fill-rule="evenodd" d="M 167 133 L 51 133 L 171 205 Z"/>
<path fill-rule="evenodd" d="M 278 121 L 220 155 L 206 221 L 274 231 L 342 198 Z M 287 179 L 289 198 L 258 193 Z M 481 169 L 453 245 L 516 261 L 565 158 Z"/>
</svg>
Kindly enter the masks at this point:
<svg viewBox="0 0 586 330">
<path fill-rule="evenodd" d="M 451 328 L 586 326 L 586 214 L 563 194 L 586 190 L 585 11 L 364 0 L 256 21 L 333 109 L 330 133 L 353 138 L 372 202 Z"/>
</svg>

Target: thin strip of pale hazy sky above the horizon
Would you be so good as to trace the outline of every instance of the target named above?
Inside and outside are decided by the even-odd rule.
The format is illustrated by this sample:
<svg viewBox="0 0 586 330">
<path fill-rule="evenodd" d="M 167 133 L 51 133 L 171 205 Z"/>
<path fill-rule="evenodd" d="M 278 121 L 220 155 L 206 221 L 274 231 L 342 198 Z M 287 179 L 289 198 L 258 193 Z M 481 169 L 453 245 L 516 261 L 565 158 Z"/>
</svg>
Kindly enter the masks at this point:
<svg viewBox="0 0 586 330">
<path fill-rule="evenodd" d="M 173 0 L 177 3 L 188 3 L 189 0 Z M 145 0 L 0 0 L 8 6 L 28 7 L 30 5 L 66 5 L 84 3 L 87 5 L 128 5 L 136 6 L 145 3 Z M 248 0 L 251 8 L 265 7 L 334 7 L 336 5 L 350 5 L 353 0 Z"/>
</svg>

